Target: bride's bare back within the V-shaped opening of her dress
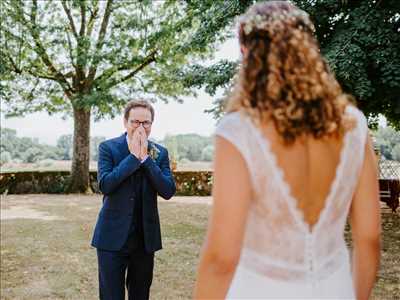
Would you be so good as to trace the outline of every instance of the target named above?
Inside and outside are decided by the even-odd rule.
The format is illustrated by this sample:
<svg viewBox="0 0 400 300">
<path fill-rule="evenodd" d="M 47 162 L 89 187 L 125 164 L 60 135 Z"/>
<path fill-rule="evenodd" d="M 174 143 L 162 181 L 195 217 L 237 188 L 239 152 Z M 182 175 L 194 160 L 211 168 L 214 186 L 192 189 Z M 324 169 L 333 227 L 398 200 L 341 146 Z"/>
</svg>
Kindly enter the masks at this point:
<svg viewBox="0 0 400 300">
<path fill-rule="evenodd" d="M 317 223 L 335 180 L 344 137 L 305 136 L 287 146 L 272 123 L 262 126 L 297 208 L 310 226 Z"/>
</svg>

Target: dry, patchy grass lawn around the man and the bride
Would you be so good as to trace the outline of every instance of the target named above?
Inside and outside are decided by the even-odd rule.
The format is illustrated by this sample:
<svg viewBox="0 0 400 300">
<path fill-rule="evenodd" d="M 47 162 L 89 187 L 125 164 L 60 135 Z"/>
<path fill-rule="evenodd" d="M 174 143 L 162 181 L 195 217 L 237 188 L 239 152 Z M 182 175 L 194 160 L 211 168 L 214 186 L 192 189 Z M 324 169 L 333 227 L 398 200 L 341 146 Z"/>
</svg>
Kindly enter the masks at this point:
<svg viewBox="0 0 400 300">
<path fill-rule="evenodd" d="M 152 299 L 190 299 L 209 198 L 160 202 L 164 249 L 156 254 Z M 8 195 L 1 199 L 1 298 L 98 299 L 90 239 L 101 197 Z M 24 218 L 12 218 L 23 216 Z M 376 299 L 400 295 L 400 216 L 383 211 Z M 397 298 L 399 299 L 399 298 Z"/>
</svg>

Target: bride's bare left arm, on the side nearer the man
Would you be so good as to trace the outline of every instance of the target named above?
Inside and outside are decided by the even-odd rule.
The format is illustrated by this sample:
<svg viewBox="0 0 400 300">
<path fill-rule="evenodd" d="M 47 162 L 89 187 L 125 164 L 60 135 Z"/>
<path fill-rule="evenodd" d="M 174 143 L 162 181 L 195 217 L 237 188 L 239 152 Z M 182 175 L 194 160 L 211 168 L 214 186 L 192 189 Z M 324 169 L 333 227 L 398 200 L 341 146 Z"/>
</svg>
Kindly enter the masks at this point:
<svg viewBox="0 0 400 300">
<path fill-rule="evenodd" d="M 195 299 L 225 298 L 239 260 L 250 199 L 250 177 L 244 158 L 230 142 L 217 136 L 213 207 Z"/>
</svg>

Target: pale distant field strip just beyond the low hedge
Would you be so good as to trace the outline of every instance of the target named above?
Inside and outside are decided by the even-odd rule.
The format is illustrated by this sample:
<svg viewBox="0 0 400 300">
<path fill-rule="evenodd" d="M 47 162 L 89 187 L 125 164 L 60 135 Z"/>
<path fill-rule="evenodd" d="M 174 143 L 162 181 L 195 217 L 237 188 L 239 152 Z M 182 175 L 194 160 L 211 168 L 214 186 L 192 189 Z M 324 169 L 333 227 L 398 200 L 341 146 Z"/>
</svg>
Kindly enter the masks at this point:
<svg viewBox="0 0 400 300">
<path fill-rule="evenodd" d="M 1 166 L 2 172 L 23 172 L 23 171 L 69 171 L 71 161 L 69 160 L 44 160 L 37 163 L 6 163 Z M 90 170 L 97 170 L 97 162 L 90 162 Z M 197 161 L 178 163 L 178 171 L 211 171 L 212 163 Z"/>
</svg>

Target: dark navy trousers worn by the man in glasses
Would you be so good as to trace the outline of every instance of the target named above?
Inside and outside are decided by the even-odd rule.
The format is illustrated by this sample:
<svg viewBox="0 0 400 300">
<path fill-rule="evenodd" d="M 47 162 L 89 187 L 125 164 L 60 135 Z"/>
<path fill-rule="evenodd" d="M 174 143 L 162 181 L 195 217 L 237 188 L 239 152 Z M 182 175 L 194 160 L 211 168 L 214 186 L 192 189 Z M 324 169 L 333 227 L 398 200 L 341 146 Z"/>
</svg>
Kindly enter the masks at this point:
<svg viewBox="0 0 400 300">
<path fill-rule="evenodd" d="M 129 300 L 149 299 L 154 253 L 146 253 L 129 237 L 120 251 L 97 249 L 97 259 L 101 300 L 124 300 L 125 286 Z"/>
</svg>

